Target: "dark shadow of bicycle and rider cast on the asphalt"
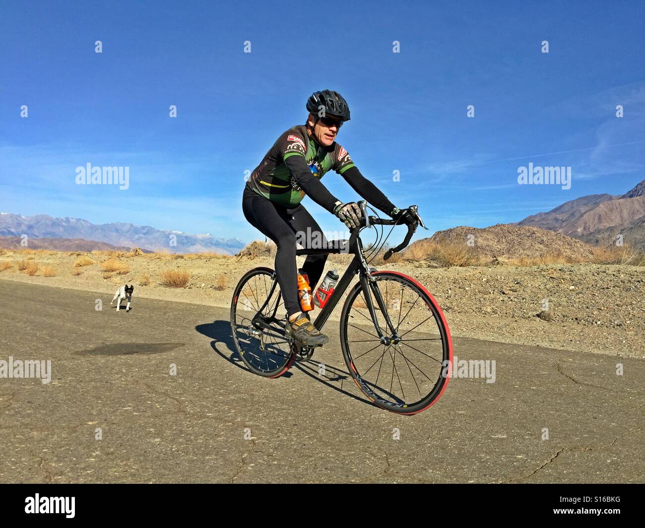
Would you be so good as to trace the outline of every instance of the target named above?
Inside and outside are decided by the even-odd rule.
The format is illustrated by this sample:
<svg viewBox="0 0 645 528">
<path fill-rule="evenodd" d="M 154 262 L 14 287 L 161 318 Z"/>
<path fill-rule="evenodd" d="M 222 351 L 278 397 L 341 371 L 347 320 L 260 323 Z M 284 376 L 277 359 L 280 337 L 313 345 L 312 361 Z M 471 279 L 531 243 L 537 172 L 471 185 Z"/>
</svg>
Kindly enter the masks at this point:
<svg viewBox="0 0 645 528">
<path fill-rule="evenodd" d="M 195 327 L 195 330 L 197 330 L 197 332 L 199 332 L 203 336 L 206 336 L 207 338 L 212 339 L 212 341 L 210 342 L 210 346 L 215 351 L 215 353 L 218 354 L 221 358 L 231 363 L 231 365 L 235 365 L 235 367 L 243 370 L 244 372 L 248 372 L 249 374 L 253 374 L 253 376 L 256 376 L 256 374 L 254 374 L 246 367 L 246 365 L 244 365 L 244 361 L 242 361 L 242 358 L 240 358 L 239 354 L 237 353 L 237 350 L 235 349 L 235 344 L 233 343 L 233 336 L 231 334 L 230 321 L 220 320 L 220 321 L 213 321 L 212 323 L 204 323 L 203 325 L 197 325 Z M 224 347 L 226 347 L 227 349 L 226 352 L 224 352 L 223 350 L 220 350 L 221 346 L 218 348 L 217 345 L 223 345 Z M 313 365 L 313 367 L 311 365 Z M 295 361 L 295 363 L 293 363 L 292 369 L 295 367 L 300 372 L 303 372 L 303 374 L 306 374 L 310 378 L 313 378 L 314 380 L 319 381 L 320 383 L 323 383 L 323 385 L 326 385 L 330 389 L 333 389 L 336 392 L 340 392 L 344 396 L 349 396 L 354 400 L 361 401 L 362 403 L 367 403 L 371 407 L 376 407 L 377 409 L 379 409 L 378 405 L 375 405 L 374 403 L 372 403 L 372 401 L 367 400 L 362 396 L 358 396 L 353 392 L 348 392 L 342 388 L 342 385 L 344 385 L 344 381 L 347 381 L 348 383 L 352 383 L 353 385 L 352 376 L 350 376 L 349 372 L 343 369 L 340 369 L 338 367 L 333 367 L 332 365 L 325 365 L 325 372 L 332 371 L 333 374 L 335 374 L 335 376 L 328 376 L 327 374 L 319 374 L 318 365 L 319 363 L 313 359 L 310 359 L 307 361 Z M 284 372 L 281 378 L 291 378 L 293 376 L 292 369 Z M 341 382 L 341 387 L 337 387 L 337 385 L 333 384 L 333 383 L 337 383 L 338 381 Z M 352 387 L 352 385 L 350 385 L 350 387 Z"/>
</svg>

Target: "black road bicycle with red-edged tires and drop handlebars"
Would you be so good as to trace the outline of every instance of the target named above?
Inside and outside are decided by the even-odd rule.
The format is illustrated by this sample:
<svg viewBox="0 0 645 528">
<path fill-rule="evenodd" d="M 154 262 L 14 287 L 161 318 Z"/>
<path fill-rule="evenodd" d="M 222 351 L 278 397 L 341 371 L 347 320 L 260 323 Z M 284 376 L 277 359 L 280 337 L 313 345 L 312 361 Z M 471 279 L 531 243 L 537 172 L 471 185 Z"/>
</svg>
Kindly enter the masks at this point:
<svg viewBox="0 0 645 528">
<path fill-rule="evenodd" d="M 450 330 L 439 304 L 421 283 L 400 272 L 370 266 L 387 238 L 379 245 L 379 236 L 377 243 L 364 250 L 361 230 L 377 225 L 392 225 L 393 229 L 397 221 L 368 216 L 366 201 L 360 201 L 359 207 L 361 225 L 351 231 L 349 240 L 296 250 L 299 256 L 354 256 L 312 323 L 323 330 L 358 274 L 359 281 L 348 292 L 340 317 L 341 349 L 348 372 L 375 405 L 398 414 L 416 414 L 433 405 L 446 389 L 452 365 Z M 401 244 L 385 252 L 384 261 L 408 245 L 418 225 L 427 229 L 417 206 L 409 209 L 417 221 L 408 226 Z M 256 267 L 246 272 L 233 291 L 231 330 L 235 349 L 251 372 L 277 378 L 294 361 L 312 357 L 315 347 L 293 339 L 286 332 L 287 324 L 275 270 Z"/>
</svg>

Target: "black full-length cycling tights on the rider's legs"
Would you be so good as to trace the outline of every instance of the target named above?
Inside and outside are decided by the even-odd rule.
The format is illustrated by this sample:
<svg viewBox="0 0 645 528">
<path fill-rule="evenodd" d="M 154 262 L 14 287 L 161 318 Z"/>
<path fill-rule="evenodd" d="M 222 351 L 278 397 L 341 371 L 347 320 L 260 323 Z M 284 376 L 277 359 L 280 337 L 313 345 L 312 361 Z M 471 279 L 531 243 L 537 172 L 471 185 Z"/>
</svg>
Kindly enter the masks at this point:
<svg viewBox="0 0 645 528">
<path fill-rule="evenodd" d="M 242 198 L 242 210 L 249 223 L 272 239 L 277 245 L 275 270 L 277 271 L 278 283 L 283 294 L 284 306 L 289 316 L 292 316 L 301 311 L 300 302 L 298 301 L 298 279 L 295 266 L 296 241 L 306 247 L 303 241 L 314 240 L 317 243 L 321 240 L 326 245 L 327 239 L 318 223 L 301 203 L 294 208 L 284 208 L 246 187 Z M 308 228 L 309 232 L 318 231 L 320 234 L 315 235 L 315 238 L 306 236 Z M 296 240 L 296 232 L 304 233 L 304 235 L 301 235 Z M 308 275 L 312 294 L 314 294 L 315 287 L 323 274 L 326 260 L 327 255 L 321 254 L 307 255 L 304 261 L 302 269 Z"/>
</svg>

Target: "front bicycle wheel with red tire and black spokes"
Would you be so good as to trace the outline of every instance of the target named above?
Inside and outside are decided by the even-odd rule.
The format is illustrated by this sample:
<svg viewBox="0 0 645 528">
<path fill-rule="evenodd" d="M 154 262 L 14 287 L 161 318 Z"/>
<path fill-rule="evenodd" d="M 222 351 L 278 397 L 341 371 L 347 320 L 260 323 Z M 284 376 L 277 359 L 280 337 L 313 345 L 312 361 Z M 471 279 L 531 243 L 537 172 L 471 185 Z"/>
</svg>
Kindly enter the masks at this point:
<svg viewBox="0 0 645 528">
<path fill-rule="evenodd" d="M 359 282 L 342 307 L 342 354 L 353 380 L 375 405 L 416 414 L 446 389 L 448 361 L 452 364 L 450 331 L 437 301 L 413 278 L 392 271 L 372 277 L 376 281 L 368 294 L 384 339 Z"/>
</svg>

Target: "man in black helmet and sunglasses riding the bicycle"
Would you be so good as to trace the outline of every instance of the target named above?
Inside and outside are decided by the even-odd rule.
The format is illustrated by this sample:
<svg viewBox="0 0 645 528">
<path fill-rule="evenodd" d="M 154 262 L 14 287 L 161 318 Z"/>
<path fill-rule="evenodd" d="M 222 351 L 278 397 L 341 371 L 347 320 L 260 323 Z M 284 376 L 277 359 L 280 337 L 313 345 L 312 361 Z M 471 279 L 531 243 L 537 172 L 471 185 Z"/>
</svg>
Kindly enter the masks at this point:
<svg viewBox="0 0 645 528">
<path fill-rule="evenodd" d="M 348 152 L 335 142 L 350 109 L 345 99 L 332 90 L 314 92 L 306 108 L 307 122 L 284 132 L 253 170 L 244 187 L 242 209 L 253 227 L 272 239 L 277 246 L 275 270 L 287 310 L 287 331 L 308 345 L 324 345 L 329 338 L 316 329 L 303 314 L 297 294 L 295 261 L 296 234 L 307 234 L 322 241 L 318 223 L 303 207 L 305 195 L 341 219 L 353 229 L 361 225 L 361 209 L 355 202 L 335 198 L 320 179 L 335 170 L 374 207 L 401 223 L 415 218 L 407 209 L 395 207 L 368 179 L 362 176 Z M 302 235 L 301 235 L 302 236 Z M 312 292 L 323 274 L 326 254 L 308 255 L 303 264 Z"/>
</svg>

